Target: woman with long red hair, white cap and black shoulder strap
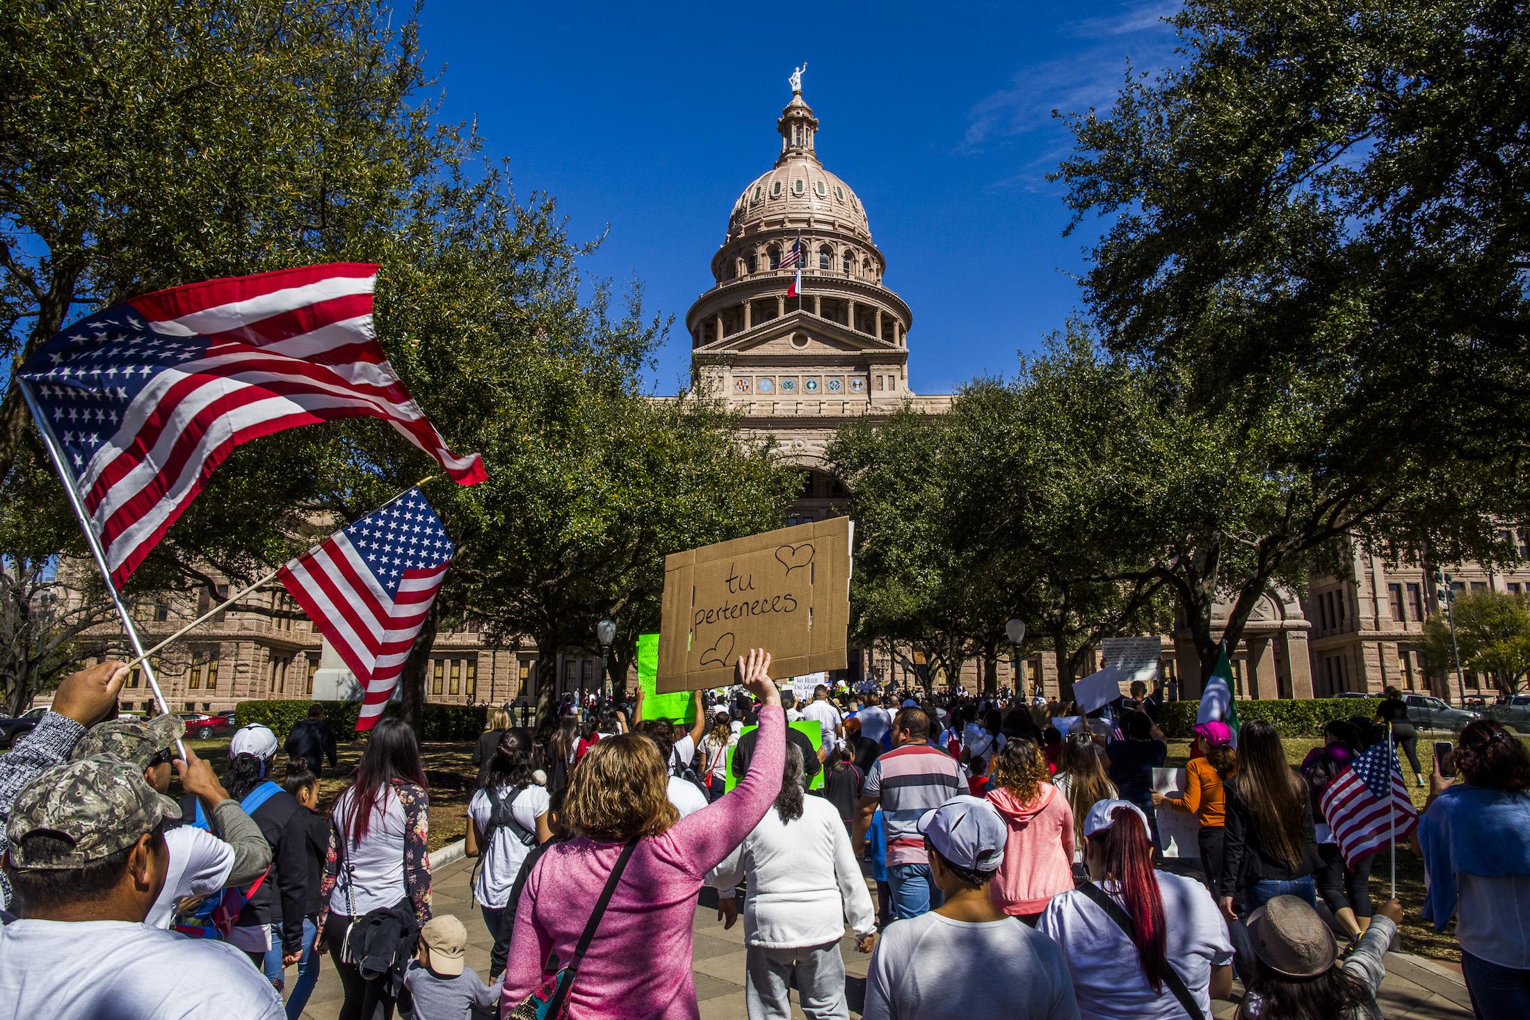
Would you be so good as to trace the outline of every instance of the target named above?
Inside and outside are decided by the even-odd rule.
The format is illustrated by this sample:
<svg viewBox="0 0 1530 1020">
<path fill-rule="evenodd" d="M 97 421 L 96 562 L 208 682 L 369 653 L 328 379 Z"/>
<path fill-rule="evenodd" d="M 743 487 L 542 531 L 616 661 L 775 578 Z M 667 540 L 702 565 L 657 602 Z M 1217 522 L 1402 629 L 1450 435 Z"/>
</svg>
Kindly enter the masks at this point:
<svg viewBox="0 0 1530 1020">
<path fill-rule="evenodd" d="M 1079 1015 L 1210 1017 L 1232 994 L 1233 947 L 1206 887 L 1154 869 L 1148 815 L 1125 800 L 1089 809 L 1083 859 L 1092 881 L 1036 922 L 1068 962 Z"/>
</svg>

